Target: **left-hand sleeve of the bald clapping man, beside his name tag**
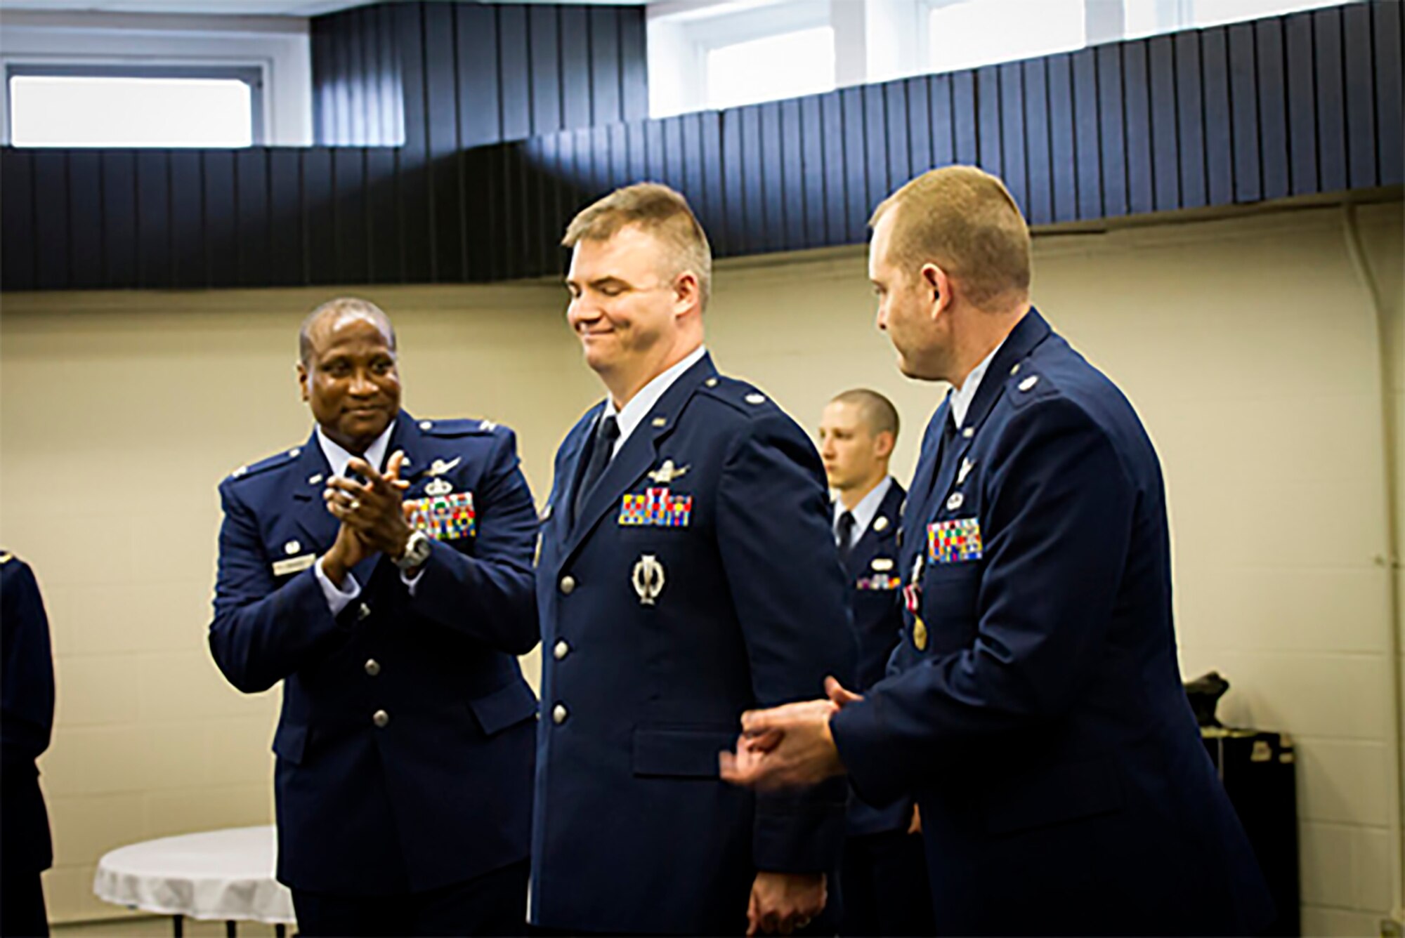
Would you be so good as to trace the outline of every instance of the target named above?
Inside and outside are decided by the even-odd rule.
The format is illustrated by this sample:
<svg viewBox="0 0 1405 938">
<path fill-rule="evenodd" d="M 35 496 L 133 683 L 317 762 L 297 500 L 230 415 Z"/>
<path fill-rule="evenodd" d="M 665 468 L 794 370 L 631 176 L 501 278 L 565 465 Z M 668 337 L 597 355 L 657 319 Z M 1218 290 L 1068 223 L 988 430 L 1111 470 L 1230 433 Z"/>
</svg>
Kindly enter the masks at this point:
<svg viewBox="0 0 1405 938">
<path fill-rule="evenodd" d="M 332 615 L 312 567 L 280 586 L 253 511 L 229 482 L 219 487 L 219 497 L 225 520 L 209 650 L 230 684 L 257 694 L 346 642 L 350 623 L 339 619 L 354 611 Z"/>
</svg>

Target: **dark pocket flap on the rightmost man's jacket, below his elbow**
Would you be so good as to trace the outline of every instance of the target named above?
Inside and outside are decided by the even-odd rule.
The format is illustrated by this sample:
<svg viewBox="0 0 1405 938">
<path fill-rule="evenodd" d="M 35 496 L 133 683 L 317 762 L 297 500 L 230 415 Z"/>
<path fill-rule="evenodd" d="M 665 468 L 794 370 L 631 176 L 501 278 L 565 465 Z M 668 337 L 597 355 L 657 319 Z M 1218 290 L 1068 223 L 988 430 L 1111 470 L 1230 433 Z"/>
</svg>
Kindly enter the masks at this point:
<svg viewBox="0 0 1405 938">
<path fill-rule="evenodd" d="M 1012 834 L 1116 812 L 1123 806 L 1123 786 L 1111 760 L 1072 762 L 992 789 L 988 805 L 986 828 Z"/>
</svg>

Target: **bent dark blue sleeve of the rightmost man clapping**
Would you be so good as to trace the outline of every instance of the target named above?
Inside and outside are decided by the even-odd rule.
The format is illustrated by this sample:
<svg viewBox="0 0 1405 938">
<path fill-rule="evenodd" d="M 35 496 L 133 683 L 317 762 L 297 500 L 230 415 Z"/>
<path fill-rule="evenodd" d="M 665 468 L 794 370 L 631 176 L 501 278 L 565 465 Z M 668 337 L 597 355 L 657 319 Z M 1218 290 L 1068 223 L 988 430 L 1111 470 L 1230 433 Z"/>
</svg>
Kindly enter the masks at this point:
<svg viewBox="0 0 1405 938">
<path fill-rule="evenodd" d="M 1135 486 L 1107 434 L 1066 399 L 1017 411 L 1002 437 L 974 643 L 885 678 L 830 720 L 867 800 L 960 771 L 964 743 L 1059 718 L 1099 663 Z"/>
</svg>

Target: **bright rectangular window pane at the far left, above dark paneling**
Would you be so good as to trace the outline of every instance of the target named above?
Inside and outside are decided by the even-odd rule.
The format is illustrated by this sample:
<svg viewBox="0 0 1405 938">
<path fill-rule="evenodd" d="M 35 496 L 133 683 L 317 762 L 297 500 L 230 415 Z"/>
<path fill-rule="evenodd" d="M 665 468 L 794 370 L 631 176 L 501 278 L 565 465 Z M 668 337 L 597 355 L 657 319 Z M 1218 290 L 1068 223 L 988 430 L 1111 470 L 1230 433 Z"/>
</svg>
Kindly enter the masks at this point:
<svg viewBox="0 0 1405 938">
<path fill-rule="evenodd" d="M 230 79 L 17 74 L 15 146 L 249 146 L 250 88 Z"/>
</svg>

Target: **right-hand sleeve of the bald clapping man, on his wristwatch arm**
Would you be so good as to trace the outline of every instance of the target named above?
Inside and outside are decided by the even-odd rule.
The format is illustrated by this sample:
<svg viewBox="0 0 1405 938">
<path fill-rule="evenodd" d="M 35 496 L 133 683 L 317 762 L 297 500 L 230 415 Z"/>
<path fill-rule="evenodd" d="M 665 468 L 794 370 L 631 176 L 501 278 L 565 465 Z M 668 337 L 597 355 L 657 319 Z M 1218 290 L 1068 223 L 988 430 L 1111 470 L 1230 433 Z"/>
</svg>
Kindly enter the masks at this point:
<svg viewBox="0 0 1405 938">
<path fill-rule="evenodd" d="M 516 435 L 497 431 L 489 469 L 475 494 L 473 556 L 434 542 L 414 587 L 413 608 L 440 625 L 511 654 L 541 639 L 532 552 L 537 508 L 517 459 Z"/>
</svg>

